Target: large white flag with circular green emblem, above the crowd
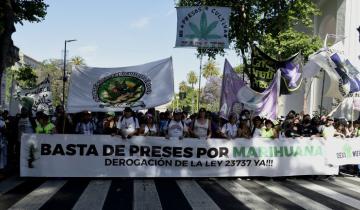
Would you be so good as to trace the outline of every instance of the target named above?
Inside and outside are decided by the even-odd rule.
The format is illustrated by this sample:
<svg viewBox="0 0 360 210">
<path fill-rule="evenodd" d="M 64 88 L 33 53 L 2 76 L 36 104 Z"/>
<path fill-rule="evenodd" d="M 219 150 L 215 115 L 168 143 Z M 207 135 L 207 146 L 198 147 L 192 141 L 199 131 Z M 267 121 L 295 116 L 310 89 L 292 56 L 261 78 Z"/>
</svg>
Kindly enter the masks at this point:
<svg viewBox="0 0 360 210">
<path fill-rule="evenodd" d="M 146 109 L 171 101 L 174 94 L 172 58 L 138 66 L 78 66 L 71 74 L 67 111 Z"/>
</svg>

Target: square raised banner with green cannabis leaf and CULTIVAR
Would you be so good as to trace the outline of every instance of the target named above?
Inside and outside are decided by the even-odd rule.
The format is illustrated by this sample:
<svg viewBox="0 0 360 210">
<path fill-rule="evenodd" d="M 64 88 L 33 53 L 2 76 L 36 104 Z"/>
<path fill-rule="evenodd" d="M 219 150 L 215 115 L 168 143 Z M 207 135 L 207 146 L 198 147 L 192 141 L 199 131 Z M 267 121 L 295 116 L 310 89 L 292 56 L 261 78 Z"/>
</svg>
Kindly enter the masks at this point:
<svg viewBox="0 0 360 210">
<path fill-rule="evenodd" d="M 175 47 L 229 48 L 229 7 L 179 7 Z"/>
</svg>

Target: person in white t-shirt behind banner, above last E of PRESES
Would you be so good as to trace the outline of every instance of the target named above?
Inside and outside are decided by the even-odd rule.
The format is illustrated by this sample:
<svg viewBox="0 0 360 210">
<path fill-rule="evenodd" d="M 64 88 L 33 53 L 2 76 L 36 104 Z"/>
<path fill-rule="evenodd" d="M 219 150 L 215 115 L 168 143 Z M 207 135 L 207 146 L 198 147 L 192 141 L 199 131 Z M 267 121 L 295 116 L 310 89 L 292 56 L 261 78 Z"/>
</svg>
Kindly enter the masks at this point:
<svg viewBox="0 0 360 210">
<path fill-rule="evenodd" d="M 167 139 L 184 138 L 185 134 L 188 132 L 188 129 L 185 123 L 181 120 L 181 117 L 182 117 L 182 112 L 178 109 L 175 109 L 173 113 L 173 119 L 169 120 L 169 122 L 165 126 L 166 129 L 165 138 Z"/>
</svg>

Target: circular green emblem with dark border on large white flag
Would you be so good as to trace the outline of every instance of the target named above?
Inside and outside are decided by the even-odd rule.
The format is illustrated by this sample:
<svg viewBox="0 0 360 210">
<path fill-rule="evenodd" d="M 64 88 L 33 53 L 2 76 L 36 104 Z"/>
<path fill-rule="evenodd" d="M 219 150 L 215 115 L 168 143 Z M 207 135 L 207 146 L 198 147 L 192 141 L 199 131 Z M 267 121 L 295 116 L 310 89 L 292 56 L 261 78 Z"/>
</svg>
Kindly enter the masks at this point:
<svg viewBox="0 0 360 210">
<path fill-rule="evenodd" d="M 99 101 L 109 104 L 131 103 L 145 94 L 145 83 L 132 76 L 115 76 L 99 84 Z"/>
</svg>

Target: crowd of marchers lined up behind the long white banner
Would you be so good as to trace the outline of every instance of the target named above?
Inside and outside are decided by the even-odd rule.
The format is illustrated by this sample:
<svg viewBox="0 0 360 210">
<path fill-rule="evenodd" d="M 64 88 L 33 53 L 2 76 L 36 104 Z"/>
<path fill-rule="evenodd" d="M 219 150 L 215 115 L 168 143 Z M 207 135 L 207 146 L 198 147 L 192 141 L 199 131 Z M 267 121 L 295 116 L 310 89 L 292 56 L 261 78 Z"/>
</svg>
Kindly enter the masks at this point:
<svg viewBox="0 0 360 210">
<path fill-rule="evenodd" d="M 46 112 L 32 112 L 21 109 L 17 116 L 3 111 L 0 117 L 0 170 L 6 160 L 18 160 L 22 133 L 37 134 L 84 134 L 117 135 L 122 139 L 132 136 L 160 136 L 164 139 L 182 138 L 223 138 L 249 139 L 330 137 L 350 138 L 360 136 L 359 121 L 334 120 L 331 117 L 311 118 L 307 114 L 290 111 L 287 116 L 275 121 L 253 116 L 249 110 L 232 113 L 228 119 L 217 113 L 200 108 L 198 113 L 189 115 L 175 109 L 173 112 L 159 112 L 154 108 L 146 112 L 134 112 L 126 107 L 122 112 L 65 114 L 57 106 L 54 115 Z"/>
</svg>

